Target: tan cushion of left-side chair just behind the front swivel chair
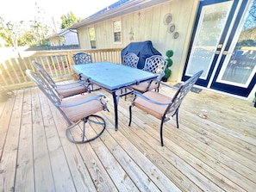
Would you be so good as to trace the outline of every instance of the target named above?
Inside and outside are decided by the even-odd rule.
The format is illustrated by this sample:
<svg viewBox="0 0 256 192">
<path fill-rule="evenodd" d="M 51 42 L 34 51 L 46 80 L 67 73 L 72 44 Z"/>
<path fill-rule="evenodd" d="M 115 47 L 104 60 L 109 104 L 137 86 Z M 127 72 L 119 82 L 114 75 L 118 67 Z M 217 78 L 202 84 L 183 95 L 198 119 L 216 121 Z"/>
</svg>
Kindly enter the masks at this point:
<svg viewBox="0 0 256 192">
<path fill-rule="evenodd" d="M 86 92 L 86 88 L 83 84 L 66 84 L 56 87 L 56 91 L 58 92 L 59 96 L 65 98 L 67 96 L 75 96 L 81 93 Z"/>
</svg>

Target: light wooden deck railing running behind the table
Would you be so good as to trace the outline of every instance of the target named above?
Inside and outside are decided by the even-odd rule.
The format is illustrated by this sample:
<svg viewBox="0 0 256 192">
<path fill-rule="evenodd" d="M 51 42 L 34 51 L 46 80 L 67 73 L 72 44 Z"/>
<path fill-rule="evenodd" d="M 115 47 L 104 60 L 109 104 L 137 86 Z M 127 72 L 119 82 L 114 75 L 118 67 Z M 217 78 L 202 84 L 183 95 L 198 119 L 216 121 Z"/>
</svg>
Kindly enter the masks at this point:
<svg viewBox="0 0 256 192">
<path fill-rule="evenodd" d="M 93 62 L 108 61 L 121 64 L 121 50 L 121 48 L 117 48 L 4 53 L 0 60 L 1 86 L 9 90 L 31 86 L 32 83 L 26 76 L 25 71 L 26 69 L 34 70 L 32 60 L 43 65 L 51 76 L 65 76 L 73 73 L 72 55 L 74 53 L 91 54 Z"/>
</svg>

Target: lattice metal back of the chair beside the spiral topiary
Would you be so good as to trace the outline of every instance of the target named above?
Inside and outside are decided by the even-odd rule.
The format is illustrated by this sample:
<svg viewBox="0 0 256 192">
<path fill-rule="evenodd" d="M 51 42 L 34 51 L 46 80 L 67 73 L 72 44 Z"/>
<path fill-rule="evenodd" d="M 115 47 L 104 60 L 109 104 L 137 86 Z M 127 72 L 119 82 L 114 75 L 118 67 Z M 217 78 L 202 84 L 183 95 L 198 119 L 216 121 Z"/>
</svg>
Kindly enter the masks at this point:
<svg viewBox="0 0 256 192">
<path fill-rule="evenodd" d="M 160 55 L 153 55 L 147 58 L 145 61 L 145 66 L 142 70 L 152 72 L 157 74 L 158 81 L 165 76 L 166 60 Z"/>
</svg>

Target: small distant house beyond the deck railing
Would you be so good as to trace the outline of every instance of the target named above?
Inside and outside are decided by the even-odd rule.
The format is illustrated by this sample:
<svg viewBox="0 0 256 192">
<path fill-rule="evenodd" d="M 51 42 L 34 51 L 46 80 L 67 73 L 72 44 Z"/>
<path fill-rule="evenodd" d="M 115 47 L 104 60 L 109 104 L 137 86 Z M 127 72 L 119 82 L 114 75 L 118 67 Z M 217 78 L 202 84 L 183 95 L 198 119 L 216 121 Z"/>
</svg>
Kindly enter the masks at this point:
<svg viewBox="0 0 256 192">
<path fill-rule="evenodd" d="M 58 34 L 47 37 L 50 46 L 71 46 L 79 45 L 77 30 L 64 29 Z"/>
</svg>

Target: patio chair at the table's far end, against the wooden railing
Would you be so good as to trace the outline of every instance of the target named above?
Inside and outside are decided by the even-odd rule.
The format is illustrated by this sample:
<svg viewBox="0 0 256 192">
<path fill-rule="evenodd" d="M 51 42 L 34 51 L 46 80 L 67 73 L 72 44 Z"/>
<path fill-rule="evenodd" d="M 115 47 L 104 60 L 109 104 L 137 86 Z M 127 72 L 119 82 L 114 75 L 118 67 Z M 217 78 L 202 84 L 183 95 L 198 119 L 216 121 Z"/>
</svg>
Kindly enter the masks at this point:
<svg viewBox="0 0 256 192">
<path fill-rule="evenodd" d="M 73 59 L 75 65 L 91 64 L 92 63 L 91 55 L 87 54 L 87 53 L 76 53 L 72 56 L 72 59 Z M 86 80 L 81 76 L 81 74 L 78 74 L 78 79 Z M 91 91 L 101 89 L 96 84 L 90 84 L 90 88 L 91 88 Z"/>
</svg>

